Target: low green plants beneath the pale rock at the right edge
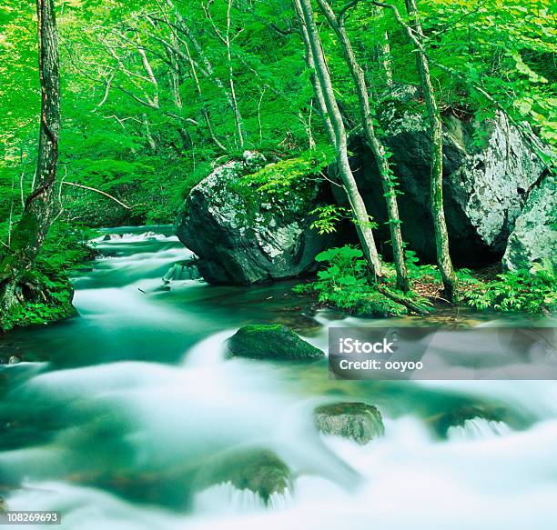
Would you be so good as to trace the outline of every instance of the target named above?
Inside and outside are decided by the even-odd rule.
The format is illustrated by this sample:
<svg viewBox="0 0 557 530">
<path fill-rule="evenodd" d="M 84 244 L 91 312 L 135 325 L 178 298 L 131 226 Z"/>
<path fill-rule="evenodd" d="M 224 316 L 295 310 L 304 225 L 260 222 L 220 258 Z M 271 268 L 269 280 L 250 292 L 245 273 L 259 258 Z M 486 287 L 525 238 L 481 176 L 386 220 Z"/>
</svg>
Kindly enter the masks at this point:
<svg viewBox="0 0 557 530">
<path fill-rule="evenodd" d="M 468 276 L 462 286 L 462 298 L 477 309 L 551 312 L 557 308 L 557 278 L 549 265 L 507 272 L 485 283 Z"/>
</svg>

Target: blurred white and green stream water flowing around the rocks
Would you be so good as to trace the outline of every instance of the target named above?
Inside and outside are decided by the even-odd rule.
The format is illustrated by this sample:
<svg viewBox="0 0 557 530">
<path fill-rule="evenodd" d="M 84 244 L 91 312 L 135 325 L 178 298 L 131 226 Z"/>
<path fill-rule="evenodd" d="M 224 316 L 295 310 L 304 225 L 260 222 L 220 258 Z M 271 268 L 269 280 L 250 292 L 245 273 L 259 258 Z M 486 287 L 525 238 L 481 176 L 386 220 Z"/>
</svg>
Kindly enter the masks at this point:
<svg viewBox="0 0 557 530">
<path fill-rule="evenodd" d="M 79 315 L 0 339 L 23 359 L 0 365 L 10 509 L 57 510 L 79 530 L 557 527 L 557 383 L 333 381 L 326 361 L 226 360 L 248 323 L 285 323 L 323 349 L 330 325 L 381 323 L 313 311 L 289 283 L 168 284 L 191 253 L 167 229 L 104 234 L 105 256 L 75 279 Z M 311 411 L 339 399 L 377 405 L 385 436 L 318 435 Z M 434 428 L 463 407 L 507 419 Z M 289 465 L 291 493 L 265 505 L 229 483 L 196 488 L 215 455 L 253 446 Z"/>
</svg>

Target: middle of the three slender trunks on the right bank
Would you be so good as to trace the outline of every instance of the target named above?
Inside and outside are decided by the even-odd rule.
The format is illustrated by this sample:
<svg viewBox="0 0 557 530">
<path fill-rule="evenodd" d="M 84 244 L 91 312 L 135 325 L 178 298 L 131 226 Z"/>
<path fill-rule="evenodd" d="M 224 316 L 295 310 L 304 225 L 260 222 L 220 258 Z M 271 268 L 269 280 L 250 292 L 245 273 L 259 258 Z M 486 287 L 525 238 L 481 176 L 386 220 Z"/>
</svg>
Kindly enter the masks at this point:
<svg viewBox="0 0 557 530">
<path fill-rule="evenodd" d="M 364 72 L 358 62 L 354 50 L 349 40 L 343 22 L 343 15 L 338 17 L 333 12 L 328 0 L 317 0 L 323 14 L 327 17 L 329 25 L 339 37 L 339 42 L 345 60 L 349 66 L 350 75 L 356 86 L 358 100 L 360 102 L 360 117 L 366 140 L 370 146 L 380 174 L 381 184 L 383 186 L 383 195 L 387 204 L 387 212 L 389 215 L 390 241 L 392 245 L 392 254 L 394 258 L 395 268 L 397 271 L 397 288 L 401 291 L 408 291 L 408 273 L 406 264 L 404 263 L 404 244 L 402 242 L 402 233 L 400 231 L 400 215 L 397 195 L 395 190 L 394 175 L 390 169 L 389 158 L 385 146 L 380 142 L 373 125 L 373 117 L 370 108 L 370 96 L 368 95 L 368 86 Z M 345 12 L 346 13 L 346 12 Z"/>
</svg>

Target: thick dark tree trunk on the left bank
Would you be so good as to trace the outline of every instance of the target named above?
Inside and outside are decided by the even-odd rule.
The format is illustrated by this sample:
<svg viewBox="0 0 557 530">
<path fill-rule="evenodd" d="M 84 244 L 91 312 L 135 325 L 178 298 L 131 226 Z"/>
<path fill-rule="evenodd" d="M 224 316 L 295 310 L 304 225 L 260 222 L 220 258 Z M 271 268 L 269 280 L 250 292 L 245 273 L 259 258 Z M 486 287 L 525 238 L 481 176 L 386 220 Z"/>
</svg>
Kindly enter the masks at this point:
<svg viewBox="0 0 557 530">
<path fill-rule="evenodd" d="M 56 166 L 60 127 L 60 73 L 54 0 L 36 0 L 41 121 L 35 185 L 15 225 L 10 248 L 0 262 L 0 328 L 7 310 L 16 303 L 16 287 L 35 264 L 59 209 Z"/>
</svg>

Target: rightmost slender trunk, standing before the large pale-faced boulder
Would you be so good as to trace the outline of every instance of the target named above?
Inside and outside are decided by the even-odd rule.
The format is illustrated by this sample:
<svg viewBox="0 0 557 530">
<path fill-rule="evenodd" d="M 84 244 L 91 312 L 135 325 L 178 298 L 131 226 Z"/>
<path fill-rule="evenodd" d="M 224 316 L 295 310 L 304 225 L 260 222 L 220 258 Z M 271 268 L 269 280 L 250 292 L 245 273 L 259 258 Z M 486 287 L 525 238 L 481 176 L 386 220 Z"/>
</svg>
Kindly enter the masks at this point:
<svg viewBox="0 0 557 530">
<path fill-rule="evenodd" d="M 431 174 L 430 174 L 430 210 L 433 217 L 435 245 L 437 248 L 437 265 L 441 272 L 445 294 L 451 302 L 456 295 L 457 279 L 449 253 L 449 233 L 443 208 L 443 130 L 441 113 L 437 106 L 435 90 L 431 84 L 430 63 L 423 48 L 423 31 L 418 16 L 415 0 L 405 0 L 406 9 L 410 16 L 413 32 L 420 42 L 416 49 L 416 61 L 420 74 L 420 85 L 428 109 L 431 135 Z"/>
</svg>

